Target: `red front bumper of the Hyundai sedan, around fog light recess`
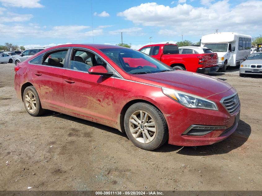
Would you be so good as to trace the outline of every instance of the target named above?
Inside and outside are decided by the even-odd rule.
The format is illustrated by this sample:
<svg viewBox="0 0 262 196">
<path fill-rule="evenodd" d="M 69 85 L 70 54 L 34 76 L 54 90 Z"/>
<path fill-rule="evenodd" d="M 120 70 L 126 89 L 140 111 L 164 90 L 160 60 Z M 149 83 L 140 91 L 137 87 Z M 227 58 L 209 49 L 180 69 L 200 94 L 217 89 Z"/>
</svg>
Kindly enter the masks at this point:
<svg viewBox="0 0 262 196">
<path fill-rule="evenodd" d="M 222 97 L 234 94 L 235 91 L 230 89 L 224 93 L 212 96 L 216 100 L 218 111 L 205 109 L 183 108 L 171 115 L 166 116 L 169 128 L 169 144 L 177 146 L 203 146 L 210 145 L 224 140 L 229 137 L 238 127 L 236 115 L 240 112 L 240 107 L 232 115 L 220 103 Z M 216 126 L 220 129 L 204 135 L 190 135 L 187 130 L 192 125 L 199 126 Z"/>
</svg>

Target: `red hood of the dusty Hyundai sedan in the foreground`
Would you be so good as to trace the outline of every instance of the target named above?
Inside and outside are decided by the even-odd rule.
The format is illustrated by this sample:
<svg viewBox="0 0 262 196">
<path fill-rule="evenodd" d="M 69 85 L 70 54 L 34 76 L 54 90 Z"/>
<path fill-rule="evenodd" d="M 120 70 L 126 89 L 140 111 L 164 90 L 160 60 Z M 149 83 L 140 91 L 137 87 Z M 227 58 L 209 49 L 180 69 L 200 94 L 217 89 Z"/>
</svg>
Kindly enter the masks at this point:
<svg viewBox="0 0 262 196">
<path fill-rule="evenodd" d="M 232 88 L 228 83 L 203 74 L 175 70 L 161 73 L 131 75 L 133 81 L 180 90 L 200 97 L 210 97 Z"/>
</svg>

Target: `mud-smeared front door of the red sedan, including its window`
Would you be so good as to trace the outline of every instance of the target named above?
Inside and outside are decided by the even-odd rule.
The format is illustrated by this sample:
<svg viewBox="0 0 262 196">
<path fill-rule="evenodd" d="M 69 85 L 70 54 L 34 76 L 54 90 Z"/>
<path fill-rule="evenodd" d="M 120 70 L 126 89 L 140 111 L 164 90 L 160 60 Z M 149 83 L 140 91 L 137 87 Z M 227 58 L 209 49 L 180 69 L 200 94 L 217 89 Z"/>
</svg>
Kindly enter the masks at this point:
<svg viewBox="0 0 262 196">
<path fill-rule="evenodd" d="M 109 66 L 87 50 L 73 49 L 64 72 L 65 110 L 111 122 L 114 78 L 90 75 L 88 69 L 96 65 Z"/>
</svg>

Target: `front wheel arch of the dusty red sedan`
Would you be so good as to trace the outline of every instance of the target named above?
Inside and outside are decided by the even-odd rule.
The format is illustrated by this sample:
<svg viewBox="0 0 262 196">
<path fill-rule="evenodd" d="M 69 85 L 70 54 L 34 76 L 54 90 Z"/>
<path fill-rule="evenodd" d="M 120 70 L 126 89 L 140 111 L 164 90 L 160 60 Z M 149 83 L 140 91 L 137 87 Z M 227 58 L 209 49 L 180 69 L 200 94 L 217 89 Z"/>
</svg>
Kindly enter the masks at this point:
<svg viewBox="0 0 262 196">
<path fill-rule="evenodd" d="M 127 112 L 127 109 L 128 109 L 131 105 L 133 105 L 133 104 L 135 104 L 135 103 L 138 103 L 138 102 L 148 103 L 148 104 L 156 107 L 159 111 L 161 111 L 155 104 L 153 104 L 152 102 L 146 101 L 146 100 L 144 100 L 144 99 L 133 99 L 133 100 L 127 102 L 127 103 L 124 105 L 124 107 L 122 108 L 122 110 L 121 110 L 121 112 L 120 112 L 120 115 L 119 115 L 119 117 L 118 117 L 118 123 L 119 123 L 118 130 L 119 130 L 120 132 L 125 132 L 125 128 L 124 128 L 124 117 L 125 117 L 125 114 L 126 114 L 126 112 Z M 161 111 L 161 112 L 162 112 L 162 111 Z"/>
</svg>

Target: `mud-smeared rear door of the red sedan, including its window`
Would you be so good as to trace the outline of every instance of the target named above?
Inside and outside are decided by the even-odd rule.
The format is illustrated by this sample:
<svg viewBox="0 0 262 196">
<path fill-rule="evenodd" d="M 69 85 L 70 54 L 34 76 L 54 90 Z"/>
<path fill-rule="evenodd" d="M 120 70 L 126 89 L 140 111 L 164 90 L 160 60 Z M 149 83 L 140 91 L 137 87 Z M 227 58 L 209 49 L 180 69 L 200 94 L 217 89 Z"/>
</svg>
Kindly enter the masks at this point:
<svg viewBox="0 0 262 196">
<path fill-rule="evenodd" d="M 68 50 L 69 48 L 62 48 L 40 54 L 36 58 L 42 56 L 41 63 L 33 61 L 36 58 L 29 61 L 35 64 L 32 68 L 32 76 L 40 100 L 51 108 L 64 110 L 63 74 L 65 68 L 63 61 L 65 62 Z M 49 58 L 51 55 L 56 58 Z"/>
</svg>

